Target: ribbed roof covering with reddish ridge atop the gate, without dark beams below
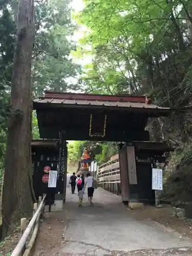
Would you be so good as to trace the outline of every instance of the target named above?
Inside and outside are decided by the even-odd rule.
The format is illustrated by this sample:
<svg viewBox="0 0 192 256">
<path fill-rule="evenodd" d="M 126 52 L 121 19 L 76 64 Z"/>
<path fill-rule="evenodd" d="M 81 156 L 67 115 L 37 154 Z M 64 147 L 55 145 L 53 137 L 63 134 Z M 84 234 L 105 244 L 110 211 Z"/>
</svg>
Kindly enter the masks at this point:
<svg viewBox="0 0 192 256">
<path fill-rule="evenodd" d="M 37 108 L 101 108 L 118 109 L 129 111 L 150 111 L 159 112 L 167 115 L 169 108 L 157 106 L 146 96 L 128 96 L 128 95 L 100 95 L 100 94 L 76 94 L 76 93 L 58 93 L 46 92 L 44 97 L 34 99 L 34 109 Z M 131 110 L 133 111 L 133 110 Z M 161 115 L 161 114 L 160 114 Z"/>
</svg>

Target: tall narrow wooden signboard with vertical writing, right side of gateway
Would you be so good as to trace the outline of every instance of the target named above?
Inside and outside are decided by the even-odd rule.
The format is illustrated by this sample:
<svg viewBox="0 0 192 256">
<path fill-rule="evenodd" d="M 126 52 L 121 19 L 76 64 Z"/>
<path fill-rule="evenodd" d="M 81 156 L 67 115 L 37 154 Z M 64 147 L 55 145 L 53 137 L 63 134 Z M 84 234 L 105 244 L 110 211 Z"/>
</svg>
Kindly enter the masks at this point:
<svg viewBox="0 0 192 256">
<path fill-rule="evenodd" d="M 137 171 L 135 163 L 135 147 L 127 146 L 127 164 L 129 173 L 129 182 L 131 185 L 137 184 Z"/>
</svg>

